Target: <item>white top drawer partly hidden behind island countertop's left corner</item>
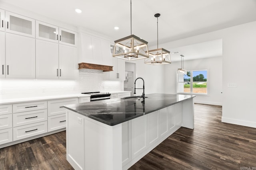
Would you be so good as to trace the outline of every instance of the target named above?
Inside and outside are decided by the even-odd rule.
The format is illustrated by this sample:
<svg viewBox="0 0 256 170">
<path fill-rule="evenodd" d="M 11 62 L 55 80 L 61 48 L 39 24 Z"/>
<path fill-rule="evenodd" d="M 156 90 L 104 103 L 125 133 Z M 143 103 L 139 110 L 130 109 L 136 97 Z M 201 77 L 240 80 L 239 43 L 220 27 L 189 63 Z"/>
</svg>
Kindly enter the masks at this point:
<svg viewBox="0 0 256 170">
<path fill-rule="evenodd" d="M 63 105 L 78 104 L 78 98 L 48 100 L 48 116 L 59 115 L 66 113 Z"/>
</svg>

